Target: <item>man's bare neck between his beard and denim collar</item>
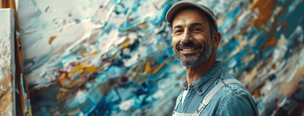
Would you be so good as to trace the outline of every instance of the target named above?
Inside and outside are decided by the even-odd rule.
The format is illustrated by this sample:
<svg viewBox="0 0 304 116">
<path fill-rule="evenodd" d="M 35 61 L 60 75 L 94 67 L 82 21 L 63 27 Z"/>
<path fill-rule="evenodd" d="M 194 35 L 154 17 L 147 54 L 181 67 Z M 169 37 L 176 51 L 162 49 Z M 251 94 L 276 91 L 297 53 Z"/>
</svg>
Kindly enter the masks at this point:
<svg viewBox="0 0 304 116">
<path fill-rule="evenodd" d="M 203 73 L 206 73 L 215 64 L 215 56 L 211 56 L 200 64 L 193 67 L 186 67 L 187 82 L 191 85 L 196 81 Z"/>
</svg>

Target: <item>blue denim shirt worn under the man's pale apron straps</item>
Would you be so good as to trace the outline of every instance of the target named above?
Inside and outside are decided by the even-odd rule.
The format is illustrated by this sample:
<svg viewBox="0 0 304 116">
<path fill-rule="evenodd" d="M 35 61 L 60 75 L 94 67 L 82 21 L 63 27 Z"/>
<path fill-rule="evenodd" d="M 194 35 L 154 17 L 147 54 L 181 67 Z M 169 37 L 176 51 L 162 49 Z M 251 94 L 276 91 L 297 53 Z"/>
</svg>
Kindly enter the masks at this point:
<svg viewBox="0 0 304 116">
<path fill-rule="evenodd" d="M 234 77 L 224 70 L 221 61 L 216 61 L 211 69 L 192 82 L 190 86 L 187 81 L 182 84 L 183 90 L 188 89 L 188 93 L 183 103 L 179 101 L 182 93 L 179 95 L 176 112 L 193 114 L 211 89 L 228 78 Z M 214 95 L 200 116 L 258 116 L 257 102 L 242 85 L 225 84 Z"/>
</svg>

